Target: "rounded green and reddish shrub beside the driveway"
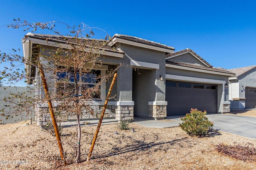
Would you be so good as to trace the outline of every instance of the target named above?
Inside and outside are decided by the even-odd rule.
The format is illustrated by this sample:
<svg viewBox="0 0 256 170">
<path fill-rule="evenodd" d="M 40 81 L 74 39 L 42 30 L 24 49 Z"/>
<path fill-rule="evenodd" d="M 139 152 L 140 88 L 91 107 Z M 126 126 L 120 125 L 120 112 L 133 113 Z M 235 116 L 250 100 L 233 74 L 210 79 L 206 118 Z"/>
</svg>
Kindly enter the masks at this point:
<svg viewBox="0 0 256 170">
<path fill-rule="evenodd" d="M 208 120 L 205 115 L 206 111 L 202 112 L 198 109 L 191 109 L 190 113 L 186 113 L 186 116 L 180 117 L 182 123 L 179 126 L 191 136 L 206 135 L 213 127 L 213 122 Z"/>
</svg>

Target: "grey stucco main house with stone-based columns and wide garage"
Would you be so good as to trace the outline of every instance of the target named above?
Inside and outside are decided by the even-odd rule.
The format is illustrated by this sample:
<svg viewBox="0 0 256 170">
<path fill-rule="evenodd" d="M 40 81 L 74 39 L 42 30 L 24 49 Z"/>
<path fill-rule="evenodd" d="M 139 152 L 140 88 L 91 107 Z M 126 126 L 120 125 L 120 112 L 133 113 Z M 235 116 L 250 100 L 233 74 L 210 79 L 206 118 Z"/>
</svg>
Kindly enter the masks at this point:
<svg viewBox="0 0 256 170">
<path fill-rule="evenodd" d="M 42 48 L 50 51 L 66 45 L 65 40 L 57 35 L 28 33 L 23 41 L 25 57 L 42 52 Z M 120 63 L 128 65 L 117 70 L 118 77 L 112 90 L 117 94 L 116 101 L 109 101 L 106 117 L 118 120 L 133 119 L 134 116 L 164 119 L 185 115 L 191 108 L 208 113 L 230 111 L 227 85 L 228 78 L 234 74 L 214 68 L 191 49 L 174 53 L 174 47 L 122 34 L 115 34 L 104 49 L 104 57 L 100 58 L 102 66 L 96 68 L 100 74 Z M 28 71 L 31 76 L 39 78 L 36 69 L 28 68 Z M 40 94 L 40 82 L 35 85 Z M 101 86 L 102 92 L 106 92 L 109 86 L 110 83 L 105 82 Z M 102 101 L 90 102 L 96 114 L 104 105 L 104 97 L 106 94 L 102 94 Z M 38 125 L 44 125 L 50 117 L 47 105 L 38 106 L 37 117 Z M 82 118 L 94 117 L 83 115 Z M 66 119 L 74 119 L 74 116 L 66 115 Z"/>
</svg>

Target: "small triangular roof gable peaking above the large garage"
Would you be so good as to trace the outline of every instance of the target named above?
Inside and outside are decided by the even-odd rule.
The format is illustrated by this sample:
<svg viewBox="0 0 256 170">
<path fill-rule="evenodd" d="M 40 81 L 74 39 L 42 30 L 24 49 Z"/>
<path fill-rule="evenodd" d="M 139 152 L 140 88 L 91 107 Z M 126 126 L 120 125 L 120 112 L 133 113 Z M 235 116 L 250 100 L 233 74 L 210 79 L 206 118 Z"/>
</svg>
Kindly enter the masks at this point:
<svg viewBox="0 0 256 170">
<path fill-rule="evenodd" d="M 201 66 L 206 66 L 212 68 L 213 66 L 206 62 L 202 57 L 196 54 L 191 49 L 184 49 L 182 51 L 177 51 L 175 53 L 170 53 L 166 55 L 166 60 L 168 61 L 178 61 L 189 64 L 199 64 Z"/>
</svg>

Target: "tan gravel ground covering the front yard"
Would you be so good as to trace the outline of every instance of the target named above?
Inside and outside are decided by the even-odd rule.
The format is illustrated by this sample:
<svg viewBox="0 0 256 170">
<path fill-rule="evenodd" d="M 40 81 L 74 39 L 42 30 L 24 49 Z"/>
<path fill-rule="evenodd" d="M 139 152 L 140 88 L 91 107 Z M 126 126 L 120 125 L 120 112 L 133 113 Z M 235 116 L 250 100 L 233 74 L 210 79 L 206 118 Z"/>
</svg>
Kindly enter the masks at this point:
<svg viewBox="0 0 256 170">
<path fill-rule="evenodd" d="M 247 113 L 248 112 L 248 113 Z M 234 113 L 255 116 L 256 111 Z M 250 113 L 249 113 L 250 112 Z M 254 112 L 254 113 L 252 113 Z M 230 114 L 230 113 L 228 113 Z M 256 162 L 241 161 L 216 151 L 216 145 L 245 145 L 256 140 L 224 132 L 191 137 L 180 127 L 147 128 L 131 123 L 135 132 L 121 131 L 115 124 L 102 125 L 92 158 L 86 162 L 96 126 L 82 127 L 82 163 L 75 164 L 76 129 L 64 128 L 62 143 L 68 166 L 62 166 L 56 137 L 27 122 L 0 125 L 0 169 L 20 170 L 252 170 Z M 118 134 L 114 134 L 114 132 Z"/>
</svg>

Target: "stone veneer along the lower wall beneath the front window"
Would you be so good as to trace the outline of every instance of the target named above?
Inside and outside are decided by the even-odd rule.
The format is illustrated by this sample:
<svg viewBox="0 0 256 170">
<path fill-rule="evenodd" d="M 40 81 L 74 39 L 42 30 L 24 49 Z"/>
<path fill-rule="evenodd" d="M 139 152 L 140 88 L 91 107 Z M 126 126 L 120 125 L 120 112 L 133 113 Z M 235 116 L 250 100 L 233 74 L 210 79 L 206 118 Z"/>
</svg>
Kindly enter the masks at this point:
<svg viewBox="0 0 256 170">
<path fill-rule="evenodd" d="M 54 110 L 58 106 L 56 104 L 54 105 Z M 104 105 L 90 105 L 91 110 L 88 111 L 84 109 L 81 119 L 97 119 L 100 118 L 102 109 Z M 90 114 L 90 112 L 93 111 L 94 114 Z M 115 118 L 116 117 L 116 106 L 113 102 L 110 102 L 110 105 L 106 107 L 106 111 L 104 114 L 105 118 Z M 62 111 L 60 115 L 57 116 L 57 119 L 59 120 L 68 120 L 68 121 L 75 121 L 76 120 L 76 114 L 74 113 L 66 113 L 65 111 Z M 36 109 L 36 120 L 38 126 L 45 126 L 51 121 L 51 115 L 47 104 L 38 105 Z"/>
</svg>

